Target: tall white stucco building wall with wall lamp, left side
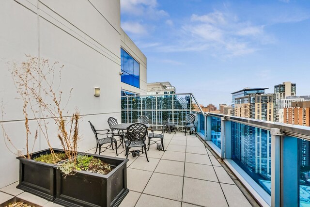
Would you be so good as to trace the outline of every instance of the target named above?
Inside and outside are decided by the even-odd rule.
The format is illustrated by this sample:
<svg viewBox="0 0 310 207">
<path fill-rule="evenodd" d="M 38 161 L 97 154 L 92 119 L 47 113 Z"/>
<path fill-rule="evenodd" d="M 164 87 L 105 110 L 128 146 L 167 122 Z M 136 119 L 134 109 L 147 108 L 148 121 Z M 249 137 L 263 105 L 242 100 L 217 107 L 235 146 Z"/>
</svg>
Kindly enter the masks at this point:
<svg viewBox="0 0 310 207">
<path fill-rule="evenodd" d="M 30 54 L 64 65 L 60 90 L 66 93 L 73 88 L 67 110 L 78 107 L 82 116 L 79 151 L 95 147 L 88 120 L 99 129 L 109 128 L 110 116 L 121 122 L 121 44 L 140 63 L 142 88 L 146 82 L 146 58 L 128 44 L 120 28 L 120 0 L 5 0 L 0 6 L 0 30 L 0 98 L 5 108 L 0 121 L 17 149 L 25 147 L 24 116 L 7 62 L 25 61 L 25 54 Z M 100 97 L 93 96 L 94 87 L 101 88 Z M 57 129 L 50 123 L 52 144 L 60 147 Z M 0 137 L 2 188 L 18 180 L 19 165 L 5 146 L 2 129 Z M 34 151 L 45 148 L 39 135 Z"/>
</svg>

